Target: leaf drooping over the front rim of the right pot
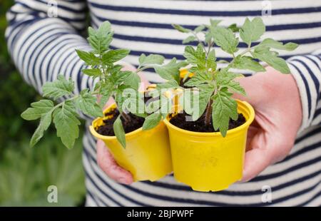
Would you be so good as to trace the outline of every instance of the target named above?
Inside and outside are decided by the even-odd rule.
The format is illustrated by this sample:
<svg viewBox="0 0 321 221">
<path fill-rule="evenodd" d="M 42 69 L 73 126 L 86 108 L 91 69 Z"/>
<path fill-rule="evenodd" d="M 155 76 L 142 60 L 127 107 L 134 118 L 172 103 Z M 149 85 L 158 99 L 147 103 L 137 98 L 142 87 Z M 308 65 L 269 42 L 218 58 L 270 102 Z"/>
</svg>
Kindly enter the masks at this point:
<svg viewBox="0 0 321 221">
<path fill-rule="evenodd" d="M 220 133 L 225 137 L 228 132 L 230 118 L 238 119 L 238 103 L 232 98 L 227 88 L 222 88 L 213 96 L 212 121 L 215 130 L 220 129 Z"/>
</svg>

